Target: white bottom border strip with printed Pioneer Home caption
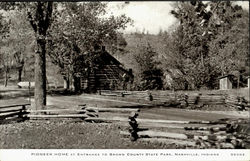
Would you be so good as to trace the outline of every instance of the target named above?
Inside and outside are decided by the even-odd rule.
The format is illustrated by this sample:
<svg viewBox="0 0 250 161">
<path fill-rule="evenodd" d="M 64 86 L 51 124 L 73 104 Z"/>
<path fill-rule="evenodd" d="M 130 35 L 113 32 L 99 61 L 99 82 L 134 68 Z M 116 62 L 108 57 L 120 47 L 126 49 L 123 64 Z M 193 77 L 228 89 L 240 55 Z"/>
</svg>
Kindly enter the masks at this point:
<svg viewBox="0 0 250 161">
<path fill-rule="evenodd" d="M 0 150 L 0 161 L 249 161 L 250 150 L 29 149 Z"/>
</svg>

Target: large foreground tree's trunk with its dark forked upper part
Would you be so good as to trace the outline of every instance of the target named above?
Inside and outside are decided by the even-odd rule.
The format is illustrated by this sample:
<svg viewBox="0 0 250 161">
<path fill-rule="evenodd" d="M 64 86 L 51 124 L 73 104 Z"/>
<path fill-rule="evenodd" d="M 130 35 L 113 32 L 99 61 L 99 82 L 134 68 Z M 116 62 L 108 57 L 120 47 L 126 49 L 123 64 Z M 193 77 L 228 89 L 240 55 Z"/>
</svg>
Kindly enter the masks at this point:
<svg viewBox="0 0 250 161">
<path fill-rule="evenodd" d="M 46 105 L 46 35 L 51 24 L 53 2 L 36 3 L 35 12 L 27 12 L 37 41 L 35 54 L 35 106 L 43 109 Z"/>
</svg>

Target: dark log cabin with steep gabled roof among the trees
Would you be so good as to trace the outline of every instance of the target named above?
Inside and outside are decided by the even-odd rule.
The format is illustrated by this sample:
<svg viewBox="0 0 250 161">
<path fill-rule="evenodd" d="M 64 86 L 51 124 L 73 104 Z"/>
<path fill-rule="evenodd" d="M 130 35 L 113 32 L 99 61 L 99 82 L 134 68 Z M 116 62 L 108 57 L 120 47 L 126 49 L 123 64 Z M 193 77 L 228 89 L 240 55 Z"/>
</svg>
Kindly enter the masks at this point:
<svg viewBox="0 0 250 161">
<path fill-rule="evenodd" d="M 80 77 L 81 90 L 93 93 L 98 90 L 128 90 L 131 88 L 134 79 L 132 69 L 125 69 L 105 50 L 105 47 L 95 49 L 86 57 L 91 57 L 92 63 L 86 72 L 87 75 Z"/>
</svg>

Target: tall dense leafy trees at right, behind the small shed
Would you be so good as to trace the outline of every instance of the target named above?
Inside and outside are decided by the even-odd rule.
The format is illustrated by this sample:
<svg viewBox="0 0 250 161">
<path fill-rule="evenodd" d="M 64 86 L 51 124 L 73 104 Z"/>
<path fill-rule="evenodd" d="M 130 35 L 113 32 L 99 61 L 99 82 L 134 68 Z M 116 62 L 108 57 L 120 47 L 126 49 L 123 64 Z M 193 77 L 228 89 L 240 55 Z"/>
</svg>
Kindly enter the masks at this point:
<svg viewBox="0 0 250 161">
<path fill-rule="evenodd" d="M 181 71 L 188 88 L 216 88 L 218 76 L 245 64 L 248 18 L 240 6 L 228 1 L 178 2 L 172 14 L 180 25 L 172 34 L 171 66 Z"/>
</svg>

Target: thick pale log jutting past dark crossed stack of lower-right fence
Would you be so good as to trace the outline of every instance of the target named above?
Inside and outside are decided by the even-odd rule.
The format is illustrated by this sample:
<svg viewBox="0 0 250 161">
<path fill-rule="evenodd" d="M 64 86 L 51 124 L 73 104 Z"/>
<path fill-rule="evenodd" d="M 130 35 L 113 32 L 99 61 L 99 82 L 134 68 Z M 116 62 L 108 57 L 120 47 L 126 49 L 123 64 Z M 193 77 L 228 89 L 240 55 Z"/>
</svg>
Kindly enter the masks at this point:
<svg viewBox="0 0 250 161">
<path fill-rule="evenodd" d="M 121 135 L 125 135 L 125 136 L 130 136 L 130 133 L 127 131 L 121 131 L 120 132 Z M 138 136 L 140 138 L 174 138 L 174 139 L 188 139 L 188 136 L 185 134 L 179 134 L 179 133 L 169 133 L 169 132 L 162 132 L 162 131 L 152 131 L 152 130 L 148 130 L 148 131 L 139 131 Z"/>
</svg>

